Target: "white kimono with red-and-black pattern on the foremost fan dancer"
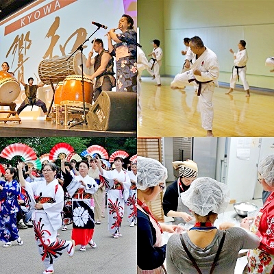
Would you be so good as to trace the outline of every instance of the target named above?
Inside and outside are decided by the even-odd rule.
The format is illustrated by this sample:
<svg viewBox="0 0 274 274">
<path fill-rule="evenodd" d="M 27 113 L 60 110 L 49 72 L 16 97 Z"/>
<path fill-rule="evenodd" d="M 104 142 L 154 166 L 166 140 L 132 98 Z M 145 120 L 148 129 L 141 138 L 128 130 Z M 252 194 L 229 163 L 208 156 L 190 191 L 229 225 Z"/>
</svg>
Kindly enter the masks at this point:
<svg viewBox="0 0 274 274">
<path fill-rule="evenodd" d="M 34 233 L 38 251 L 46 268 L 67 251 L 70 241 L 57 238 L 57 231 L 62 225 L 61 212 L 64 206 L 64 191 L 57 179 L 47 184 L 44 178 L 35 182 L 25 182 L 25 191 L 29 204 L 34 208 L 35 203 L 42 203 L 42 210 L 34 210 Z"/>
</svg>

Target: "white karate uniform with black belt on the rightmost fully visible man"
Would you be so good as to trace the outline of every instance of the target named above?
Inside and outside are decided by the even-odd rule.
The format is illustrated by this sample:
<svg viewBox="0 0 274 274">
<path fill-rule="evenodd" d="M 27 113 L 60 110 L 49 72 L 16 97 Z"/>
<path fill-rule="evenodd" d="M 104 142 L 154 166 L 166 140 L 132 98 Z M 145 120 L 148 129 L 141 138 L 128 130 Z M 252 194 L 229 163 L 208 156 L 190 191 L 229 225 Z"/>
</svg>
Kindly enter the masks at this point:
<svg viewBox="0 0 274 274">
<path fill-rule="evenodd" d="M 238 69 L 239 77 L 242 81 L 242 85 L 244 86 L 245 90 L 249 90 L 249 84 L 247 83 L 246 79 L 246 73 L 247 73 L 247 49 L 242 49 L 242 51 L 238 51 L 237 53 L 234 53 L 234 56 L 236 56 L 236 59 L 234 59 L 234 65 L 235 66 L 245 66 L 242 69 Z M 237 69 L 234 67 L 232 75 L 230 77 L 230 88 L 235 88 L 236 81 L 238 79 L 237 75 Z"/>
</svg>

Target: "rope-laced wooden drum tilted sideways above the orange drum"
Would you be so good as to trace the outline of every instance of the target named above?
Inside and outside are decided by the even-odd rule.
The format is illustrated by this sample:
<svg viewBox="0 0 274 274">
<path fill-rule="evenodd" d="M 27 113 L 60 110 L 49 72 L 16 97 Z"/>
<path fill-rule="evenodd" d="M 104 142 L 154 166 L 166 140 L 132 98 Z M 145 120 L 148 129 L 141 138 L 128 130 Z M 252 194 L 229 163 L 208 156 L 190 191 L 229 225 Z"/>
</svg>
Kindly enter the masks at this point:
<svg viewBox="0 0 274 274">
<path fill-rule="evenodd" d="M 38 66 L 38 75 L 41 81 L 49 85 L 51 82 L 57 84 L 64 81 L 68 75 L 81 75 L 81 52 L 74 53 L 69 60 L 69 55 L 58 58 L 42 60 Z M 83 55 L 84 73 L 88 73 L 86 69 L 86 57 Z"/>
</svg>

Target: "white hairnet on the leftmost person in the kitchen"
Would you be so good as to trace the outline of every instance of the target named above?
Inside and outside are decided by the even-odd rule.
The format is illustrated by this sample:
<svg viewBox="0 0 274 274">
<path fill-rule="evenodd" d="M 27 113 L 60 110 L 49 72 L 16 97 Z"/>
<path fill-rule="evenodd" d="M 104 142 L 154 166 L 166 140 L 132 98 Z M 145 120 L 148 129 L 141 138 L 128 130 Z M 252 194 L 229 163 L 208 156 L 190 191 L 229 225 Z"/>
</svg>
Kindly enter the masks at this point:
<svg viewBox="0 0 274 274">
<path fill-rule="evenodd" d="M 167 169 L 157 160 L 145 157 L 137 157 L 137 182 L 140 190 L 151 186 L 157 186 L 167 178 Z"/>
</svg>

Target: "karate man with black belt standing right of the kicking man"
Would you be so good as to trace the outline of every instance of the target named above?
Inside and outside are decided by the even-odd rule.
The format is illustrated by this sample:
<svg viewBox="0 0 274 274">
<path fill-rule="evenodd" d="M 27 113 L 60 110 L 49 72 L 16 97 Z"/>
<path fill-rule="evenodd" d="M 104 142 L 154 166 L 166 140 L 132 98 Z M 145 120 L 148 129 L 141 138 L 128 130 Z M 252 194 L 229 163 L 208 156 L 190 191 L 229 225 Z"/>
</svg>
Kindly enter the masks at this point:
<svg viewBox="0 0 274 274">
<path fill-rule="evenodd" d="M 248 60 L 248 56 L 247 56 L 247 49 L 245 48 L 245 45 L 247 43 L 244 40 L 240 40 L 240 42 L 238 43 L 238 52 L 235 53 L 232 49 L 229 49 L 229 51 L 234 55 L 234 64 L 235 66 L 233 66 L 232 69 L 232 76 L 230 77 L 230 88 L 229 91 L 225 94 L 229 95 L 229 93 L 233 92 L 235 85 L 236 85 L 236 81 L 238 79 L 239 81 L 239 77 L 242 81 L 242 85 L 244 86 L 245 91 L 247 92 L 247 97 L 250 96 L 249 93 L 249 84 L 247 83 L 247 79 L 246 79 L 246 73 L 247 73 L 247 60 Z"/>
</svg>

